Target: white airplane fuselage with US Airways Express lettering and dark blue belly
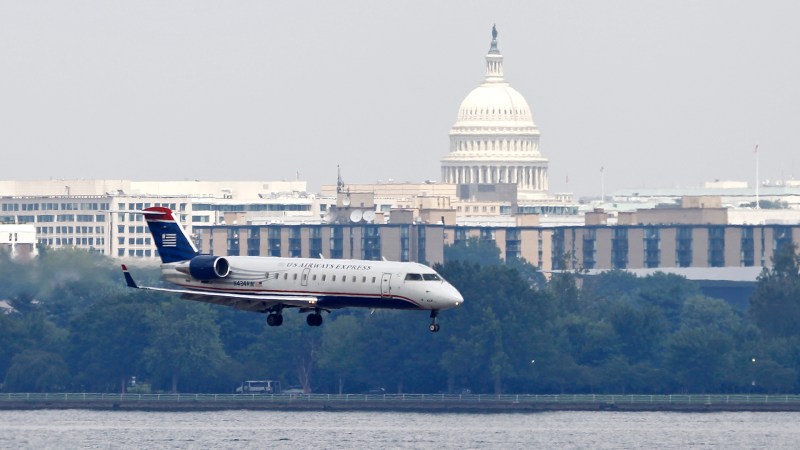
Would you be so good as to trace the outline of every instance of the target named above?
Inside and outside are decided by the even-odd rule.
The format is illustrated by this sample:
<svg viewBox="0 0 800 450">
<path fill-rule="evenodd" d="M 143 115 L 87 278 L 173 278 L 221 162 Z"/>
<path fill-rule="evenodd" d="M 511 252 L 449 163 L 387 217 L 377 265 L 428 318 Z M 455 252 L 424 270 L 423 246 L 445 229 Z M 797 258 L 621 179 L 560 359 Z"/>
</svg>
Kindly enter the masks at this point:
<svg viewBox="0 0 800 450">
<path fill-rule="evenodd" d="M 413 262 L 229 256 L 224 278 L 199 281 L 185 263 L 163 264 L 167 281 L 195 291 L 315 297 L 315 307 L 441 310 L 464 299 L 428 266 Z"/>
</svg>

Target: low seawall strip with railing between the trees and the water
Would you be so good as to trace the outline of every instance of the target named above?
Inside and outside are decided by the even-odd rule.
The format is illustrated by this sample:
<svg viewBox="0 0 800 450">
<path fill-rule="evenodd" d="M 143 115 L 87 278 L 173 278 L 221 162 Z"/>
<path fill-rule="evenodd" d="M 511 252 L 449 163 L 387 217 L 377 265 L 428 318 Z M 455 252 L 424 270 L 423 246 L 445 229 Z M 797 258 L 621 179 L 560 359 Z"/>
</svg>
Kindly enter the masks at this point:
<svg viewBox="0 0 800 450">
<path fill-rule="evenodd" d="M 0 410 L 392 411 L 535 413 L 547 411 L 800 412 L 796 395 L 230 395 L 0 394 Z"/>
</svg>

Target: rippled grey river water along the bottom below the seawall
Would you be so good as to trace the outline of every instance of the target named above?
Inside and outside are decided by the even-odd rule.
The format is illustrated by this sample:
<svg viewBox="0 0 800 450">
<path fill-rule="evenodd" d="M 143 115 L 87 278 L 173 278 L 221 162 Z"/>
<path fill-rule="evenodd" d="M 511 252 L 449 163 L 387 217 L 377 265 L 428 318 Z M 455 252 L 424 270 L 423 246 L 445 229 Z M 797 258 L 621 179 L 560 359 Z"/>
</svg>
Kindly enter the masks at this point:
<svg viewBox="0 0 800 450">
<path fill-rule="evenodd" d="M 800 446 L 794 412 L 0 411 L 0 448 L 530 449 Z"/>
</svg>

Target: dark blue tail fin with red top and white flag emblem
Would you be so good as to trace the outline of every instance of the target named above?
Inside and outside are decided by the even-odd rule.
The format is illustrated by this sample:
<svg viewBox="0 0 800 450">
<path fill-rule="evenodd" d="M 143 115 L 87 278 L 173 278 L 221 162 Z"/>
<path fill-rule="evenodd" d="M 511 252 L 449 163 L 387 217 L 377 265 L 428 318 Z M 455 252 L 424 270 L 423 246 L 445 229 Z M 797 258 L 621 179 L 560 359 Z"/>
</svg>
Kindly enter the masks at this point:
<svg viewBox="0 0 800 450">
<path fill-rule="evenodd" d="M 154 206 L 146 208 L 142 214 L 153 235 L 161 262 L 186 261 L 200 254 L 189 235 L 172 216 L 172 210 Z"/>
</svg>

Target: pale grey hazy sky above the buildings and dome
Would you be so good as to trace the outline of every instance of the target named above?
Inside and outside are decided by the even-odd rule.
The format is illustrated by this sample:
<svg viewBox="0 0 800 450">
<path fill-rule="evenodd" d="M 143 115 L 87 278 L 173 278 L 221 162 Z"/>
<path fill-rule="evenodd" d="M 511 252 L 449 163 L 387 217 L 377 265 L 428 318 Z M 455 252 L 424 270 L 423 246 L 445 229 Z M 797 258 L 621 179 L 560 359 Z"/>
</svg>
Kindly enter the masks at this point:
<svg viewBox="0 0 800 450">
<path fill-rule="evenodd" d="M 796 1 L 0 0 L 0 179 L 439 180 L 497 24 L 553 192 L 800 178 Z M 796 166 L 796 167 L 795 167 Z"/>
</svg>

